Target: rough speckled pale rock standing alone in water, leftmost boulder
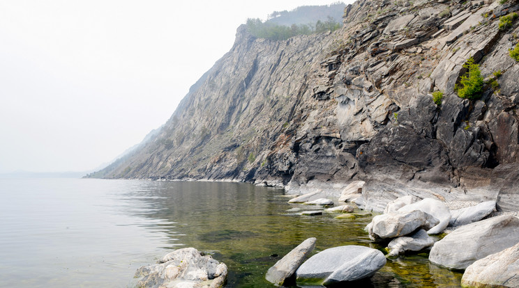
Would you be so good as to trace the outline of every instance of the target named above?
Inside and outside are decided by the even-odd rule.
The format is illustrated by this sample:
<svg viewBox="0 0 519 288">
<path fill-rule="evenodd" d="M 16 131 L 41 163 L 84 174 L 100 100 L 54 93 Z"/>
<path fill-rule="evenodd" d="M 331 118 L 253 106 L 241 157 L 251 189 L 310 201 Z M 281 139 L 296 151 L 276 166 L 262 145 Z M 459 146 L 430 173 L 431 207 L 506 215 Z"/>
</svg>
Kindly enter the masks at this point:
<svg viewBox="0 0 519 288">
<path fill-rule="evenodd" d="M 144 277 L 143 277 L 144 276 Z M 227 266 L 209 255 L 201 255 L 195 248 L 174 250 L 158 264 L 137 269 L 139 287 L 223 287 Z"/>
</svg>

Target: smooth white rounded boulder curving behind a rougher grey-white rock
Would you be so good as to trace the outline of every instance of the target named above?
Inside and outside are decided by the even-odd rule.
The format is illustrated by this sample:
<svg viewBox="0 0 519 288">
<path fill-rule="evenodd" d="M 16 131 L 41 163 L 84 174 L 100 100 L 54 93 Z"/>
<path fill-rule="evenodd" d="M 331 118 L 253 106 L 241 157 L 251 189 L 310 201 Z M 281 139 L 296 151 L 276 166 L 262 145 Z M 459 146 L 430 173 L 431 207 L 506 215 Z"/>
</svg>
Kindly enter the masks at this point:
<svg viewBox="0 0 519 288">
<path fill-rule="evenodd" d="M 426 212 L 439 220 L 439 223 L 427 231 L 428 234 L 439 234 L 445 230 L 451 220 L 451 211 L 444 202 L 432 198 L 425 198 L 419 202 L 405 205 L 398 209 L 399 212 L 410 212 L 420 210 Z"/>
</svg>

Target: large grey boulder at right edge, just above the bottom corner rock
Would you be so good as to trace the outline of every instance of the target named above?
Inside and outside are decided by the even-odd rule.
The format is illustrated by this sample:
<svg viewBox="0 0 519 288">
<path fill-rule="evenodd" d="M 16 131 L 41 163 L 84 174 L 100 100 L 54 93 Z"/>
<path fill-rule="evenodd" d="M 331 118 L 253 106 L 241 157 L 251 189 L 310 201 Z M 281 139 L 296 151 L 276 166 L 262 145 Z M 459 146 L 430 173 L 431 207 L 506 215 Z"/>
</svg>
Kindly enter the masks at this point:
<svg viewBox="0 0 519 288">
<path fill-rule="evenodd" d="M 476 260 L 519 242 L 519 218 L 497 216 L 464 225 L 438 241 L 429 260 L 450 269 L 466 269 Z"/>
</svg>

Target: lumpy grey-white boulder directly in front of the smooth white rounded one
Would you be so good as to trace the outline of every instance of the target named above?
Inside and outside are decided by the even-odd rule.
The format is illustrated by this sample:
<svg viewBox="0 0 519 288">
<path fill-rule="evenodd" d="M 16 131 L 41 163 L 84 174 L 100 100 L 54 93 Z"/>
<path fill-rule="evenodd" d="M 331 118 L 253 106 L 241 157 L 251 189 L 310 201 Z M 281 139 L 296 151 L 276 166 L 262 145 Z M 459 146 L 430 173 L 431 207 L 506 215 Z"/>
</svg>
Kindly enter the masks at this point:
<svg viewBox="0 0 519 288">
<path fill-rule="evenodd" d="M 419 210 L 396 211 L 373 217 L 366 226 L 373 241 L 411 234 L 418 228 L 430 229 L 439 223 L 434 216 Z"/>
</svg>

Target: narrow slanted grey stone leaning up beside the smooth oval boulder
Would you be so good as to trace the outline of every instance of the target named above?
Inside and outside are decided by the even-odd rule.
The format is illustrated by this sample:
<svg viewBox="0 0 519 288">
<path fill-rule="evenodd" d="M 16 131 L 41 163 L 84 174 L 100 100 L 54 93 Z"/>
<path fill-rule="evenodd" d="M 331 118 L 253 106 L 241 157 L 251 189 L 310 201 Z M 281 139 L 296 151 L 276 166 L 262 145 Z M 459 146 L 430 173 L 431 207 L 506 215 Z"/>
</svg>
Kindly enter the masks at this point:
<svg viewBox="0 0 519 288">
<path fill-rule="evenodd" d="M 266 280 L 276 285 L 283 285 L 289 278 L 292 278 L 296 270 L 315 248 L 315 238 L 308 238 L 299 246 L 290 251 L 285 257 L 281 258 L 274 266 L 266 271 Z"/>
</svg>

